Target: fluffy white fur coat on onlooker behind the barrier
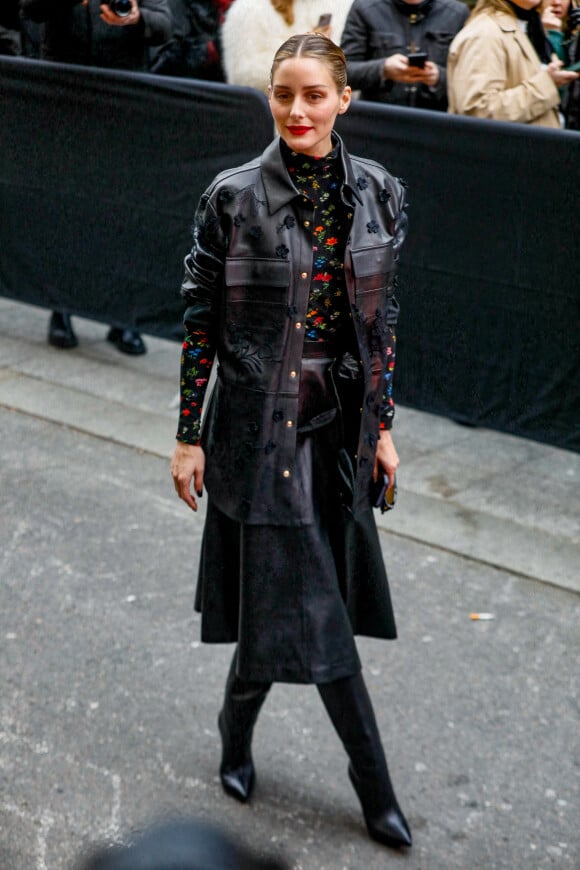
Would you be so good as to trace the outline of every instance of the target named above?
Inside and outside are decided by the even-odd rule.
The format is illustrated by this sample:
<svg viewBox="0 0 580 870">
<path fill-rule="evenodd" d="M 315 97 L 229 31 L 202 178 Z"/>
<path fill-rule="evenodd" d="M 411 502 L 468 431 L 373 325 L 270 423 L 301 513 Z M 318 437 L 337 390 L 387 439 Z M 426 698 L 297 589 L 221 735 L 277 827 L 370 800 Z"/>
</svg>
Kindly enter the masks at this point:
<svg viewBox="0 0 580 870">
<path fill-rule="evenodd" d="M 352 0 L 294 0 L 289 27 L 270 0 L 234 0 L 222 27 L 222 62 L 230 85 L 248 85 L 266 92 L 274 54 L 294 33 L 313 30 L 332 13 L 330 38 L 340 45 Z"/>
</svg>

